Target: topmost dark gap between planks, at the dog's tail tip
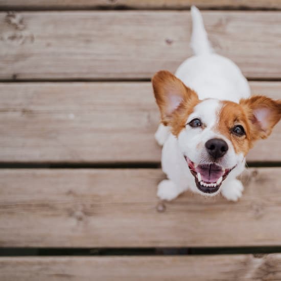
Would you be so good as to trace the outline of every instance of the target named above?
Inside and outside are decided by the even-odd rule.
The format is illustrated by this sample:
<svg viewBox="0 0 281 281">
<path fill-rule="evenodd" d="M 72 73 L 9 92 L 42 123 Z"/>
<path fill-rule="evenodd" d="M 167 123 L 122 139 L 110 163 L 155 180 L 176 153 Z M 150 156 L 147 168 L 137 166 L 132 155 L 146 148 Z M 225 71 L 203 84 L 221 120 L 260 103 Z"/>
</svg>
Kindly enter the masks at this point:
<svg viewBox="0 0 281 281">
<path fill-rule="evenodd" d="M 248 6 L 220 6 L 220 7 L 200 7 L 201 11 L 238 11 L 238 12 L 251 12 L 251 11 L 280 11 L 281 7 L 248 7 Z M 37 7 L 37 6 L 0 6 L 0 12 L 17 11 L 17 12 L 67 12 L 67 11 L 190 11 L 191 6 L 186 7 L 131 7 L 126 5 L 115 6 L 49 6 L 49 7 Z"/>
</svg>

